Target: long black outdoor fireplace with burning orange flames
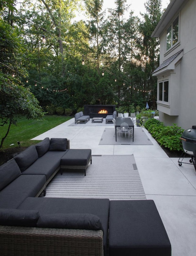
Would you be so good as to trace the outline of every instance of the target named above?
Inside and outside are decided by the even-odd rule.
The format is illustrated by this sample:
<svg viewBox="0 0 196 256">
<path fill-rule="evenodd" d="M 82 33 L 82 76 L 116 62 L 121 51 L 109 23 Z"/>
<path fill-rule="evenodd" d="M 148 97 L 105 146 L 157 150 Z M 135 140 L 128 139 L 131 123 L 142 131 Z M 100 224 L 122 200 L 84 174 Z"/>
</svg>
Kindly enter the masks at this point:
<svg viewBox="0 0 196 256">
<path fill-rule="evenodd" d="M 107 115 L 112 115 L 115 109 L 115 105 L 84 105 L 84 115 L 89 115 L 90 118 L 105 118 Z"/>
</svg>

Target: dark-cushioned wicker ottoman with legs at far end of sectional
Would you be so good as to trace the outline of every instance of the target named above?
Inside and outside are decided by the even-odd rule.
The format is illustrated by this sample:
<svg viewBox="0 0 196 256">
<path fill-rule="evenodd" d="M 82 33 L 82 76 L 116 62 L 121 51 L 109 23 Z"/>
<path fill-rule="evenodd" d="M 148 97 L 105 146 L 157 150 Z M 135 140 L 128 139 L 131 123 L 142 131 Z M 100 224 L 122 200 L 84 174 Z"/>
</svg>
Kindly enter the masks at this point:
<svg viewBox="0 0 196 256">
<path fill-rule="evenodd" d="M 61 158 L 61 175 L 62 170 L 82 170 L 86 176 L 86 168 L 92 164 L 91 149 L 68 149 L 66 154 Z"/>
</svg>

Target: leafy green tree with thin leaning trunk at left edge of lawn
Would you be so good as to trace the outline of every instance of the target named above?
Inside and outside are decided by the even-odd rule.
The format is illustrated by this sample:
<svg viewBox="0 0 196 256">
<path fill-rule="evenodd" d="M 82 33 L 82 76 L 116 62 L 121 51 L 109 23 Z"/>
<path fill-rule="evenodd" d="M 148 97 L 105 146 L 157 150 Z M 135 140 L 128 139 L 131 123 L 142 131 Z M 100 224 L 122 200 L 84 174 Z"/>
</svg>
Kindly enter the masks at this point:
<svg viewBox="0 0 196 256">
<path fill-rule="evenodd" d="M 2 20 L 0 38 L 0 126 L 9 124 L 5 136 L 1 138 L 2 148 L 10 126 L 17 123 L 17 118 L 42 118 L 44 113 L 29 88 L 21 83 L 21 78 L 27 76 L 27 56 L 21 44 L 22 38 L 18 37 L 17 30 Z"/>
</svg>

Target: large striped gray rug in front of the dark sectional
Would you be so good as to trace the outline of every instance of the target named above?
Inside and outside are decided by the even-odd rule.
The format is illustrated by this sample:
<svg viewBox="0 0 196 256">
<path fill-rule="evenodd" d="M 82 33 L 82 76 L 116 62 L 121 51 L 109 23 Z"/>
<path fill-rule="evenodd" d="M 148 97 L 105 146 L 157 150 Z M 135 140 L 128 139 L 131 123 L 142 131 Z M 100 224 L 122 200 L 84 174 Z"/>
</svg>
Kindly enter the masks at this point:
<svg viewBox="0 0 196 256">
<path fill-rule="evenodd" d="M 46 188 L 46 197 L 146 199 L 134 155 L 92 156 L 82 172 L 58 172 Z"/>
</svg>

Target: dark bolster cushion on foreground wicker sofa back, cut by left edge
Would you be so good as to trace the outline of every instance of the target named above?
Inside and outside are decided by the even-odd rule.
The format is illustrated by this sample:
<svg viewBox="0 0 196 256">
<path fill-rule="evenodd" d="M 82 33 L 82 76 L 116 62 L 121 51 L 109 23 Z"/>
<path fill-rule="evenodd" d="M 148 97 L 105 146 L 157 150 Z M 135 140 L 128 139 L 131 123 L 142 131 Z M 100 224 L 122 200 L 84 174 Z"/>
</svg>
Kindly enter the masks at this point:
<svg viewBox="0 0 196 256">
<path fill-rule="evenodd" d="M 0 225 L 18 227 L 36 227 L 39 211 L 0 209 Z"/>
</svg>

